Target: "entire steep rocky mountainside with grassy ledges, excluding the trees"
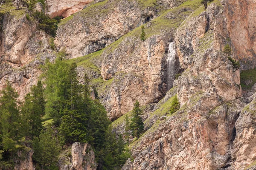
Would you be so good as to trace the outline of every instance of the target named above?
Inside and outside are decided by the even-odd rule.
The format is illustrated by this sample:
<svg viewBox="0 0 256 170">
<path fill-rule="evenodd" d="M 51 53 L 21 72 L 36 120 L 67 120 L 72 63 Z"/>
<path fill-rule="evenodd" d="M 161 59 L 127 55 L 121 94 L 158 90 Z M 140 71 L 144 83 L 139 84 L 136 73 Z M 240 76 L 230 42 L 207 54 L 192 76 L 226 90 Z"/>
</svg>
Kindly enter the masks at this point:
<svg viewBox="0 0 256 170">
<path fill-rule="evenodd" d="M 143 108 L 144 133 L 130 136 L 134 160 L 122 170 L 256 169 L 255 0 L 207 1 L 207 9 L 201 0 L 46 0 L 40 11 L 65 17 L 54 39 L 27 17 L 29 2 L 5 1 L 0 89 L 8 80 L 23 99 L 46 59 L 65 51 L 79 82 L 91 79 L 114 133 L 124 136 L 136 100 Z M 180 109 L 170 113 L 175 96 Z M 71 148 L 61 170 L 96 169 L 89 145 Z M 26 154 L 17 170 L 35 168 Z"/>
</svg>

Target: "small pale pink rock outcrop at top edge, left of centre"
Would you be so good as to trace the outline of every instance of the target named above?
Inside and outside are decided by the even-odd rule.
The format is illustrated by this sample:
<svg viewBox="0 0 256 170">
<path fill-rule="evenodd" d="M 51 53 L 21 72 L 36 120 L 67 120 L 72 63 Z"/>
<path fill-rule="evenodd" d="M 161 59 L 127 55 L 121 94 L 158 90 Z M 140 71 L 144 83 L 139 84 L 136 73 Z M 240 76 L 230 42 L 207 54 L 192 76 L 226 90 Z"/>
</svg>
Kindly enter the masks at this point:
<svg viewBox="0 0 256 170">
<path fill-rule="evenodd" d="M 80 11 L 93 0 L 46 0 L 47 14 L 50 17 L 62 16 L 68 17 L 77 11 Z"/>
</svg>

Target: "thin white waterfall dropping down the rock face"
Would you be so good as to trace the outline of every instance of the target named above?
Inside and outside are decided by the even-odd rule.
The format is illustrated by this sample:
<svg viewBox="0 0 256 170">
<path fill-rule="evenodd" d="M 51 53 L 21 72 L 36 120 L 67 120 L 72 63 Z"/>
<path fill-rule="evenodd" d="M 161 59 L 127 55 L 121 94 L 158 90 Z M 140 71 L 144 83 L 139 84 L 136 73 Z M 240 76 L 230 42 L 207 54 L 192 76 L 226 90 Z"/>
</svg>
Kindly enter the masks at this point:
<svg viewBox="0 0 256 170">
<path fill-rule="evenodd" d="M 169 51 L 167 57 L 167 91 L 173 86 L 175 77 L 175 42 L 169 43 Z"/>
</svg>

